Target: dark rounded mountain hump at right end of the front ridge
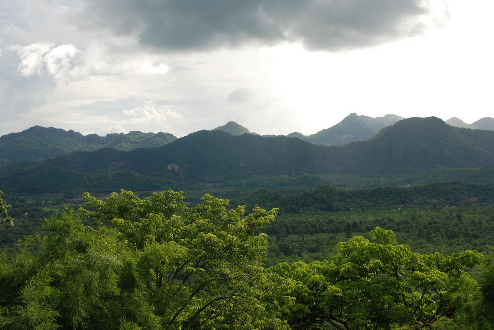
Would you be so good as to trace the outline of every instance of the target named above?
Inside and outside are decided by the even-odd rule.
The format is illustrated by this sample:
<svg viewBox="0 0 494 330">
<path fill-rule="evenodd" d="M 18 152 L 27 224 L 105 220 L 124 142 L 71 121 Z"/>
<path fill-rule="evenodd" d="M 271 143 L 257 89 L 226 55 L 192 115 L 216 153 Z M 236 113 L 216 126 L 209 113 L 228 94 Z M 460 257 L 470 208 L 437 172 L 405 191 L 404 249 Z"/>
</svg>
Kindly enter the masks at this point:
<svg viewBox="0 0 494 330">
<path fill-rule="evenodd" d="M 347 170 L 367 173 L 479 168 L 494 163 L 494 132 L 447 125 L 436 117 L 409 118 L 368 141 L 343 147 Z"/>
</svg>

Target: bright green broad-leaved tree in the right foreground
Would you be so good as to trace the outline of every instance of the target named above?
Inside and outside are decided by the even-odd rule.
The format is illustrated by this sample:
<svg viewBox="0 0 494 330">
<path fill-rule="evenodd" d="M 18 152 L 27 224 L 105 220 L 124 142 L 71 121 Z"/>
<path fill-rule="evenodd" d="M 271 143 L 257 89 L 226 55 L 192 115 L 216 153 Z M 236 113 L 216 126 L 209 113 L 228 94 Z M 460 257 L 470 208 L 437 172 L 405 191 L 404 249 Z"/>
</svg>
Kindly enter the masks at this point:
<svg viewBox="0 0 494 330">
<path fill-rule="evenodd" d="M 421 255 L 396 245 L 390 230 L 376 227 L 369 235 L 371 241 L 355 236 L 340 242 L 328 260 L 270 268 L 296 281 L 288 293 L 294 300 L 285 306 L 293 329 L 424 328 L 451 317 L 456 301 L 474 290 L 464 269 L 480 263 L 480 253 Z"/>
</svg>

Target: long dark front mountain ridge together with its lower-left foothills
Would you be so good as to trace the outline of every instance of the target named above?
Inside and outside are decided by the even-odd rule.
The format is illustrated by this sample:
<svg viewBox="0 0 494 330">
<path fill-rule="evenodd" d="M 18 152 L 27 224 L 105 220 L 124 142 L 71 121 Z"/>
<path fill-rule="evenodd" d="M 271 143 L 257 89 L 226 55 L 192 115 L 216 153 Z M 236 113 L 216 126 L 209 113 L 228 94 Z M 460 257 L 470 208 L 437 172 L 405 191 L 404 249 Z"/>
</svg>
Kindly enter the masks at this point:
<svg viewBox="0 0 494 330">
<path fill-rule="evenodd" d="M 14 192 L 109 191 L 117 186 L 155 190 L 175 183 L 334 174 L 386 174 L 420 183 L 433 175 L 445 178 L 450 171 L 458 175 L 460 169 L 461 178 L 475 181 L 476 175 L 489 177 L 493 164 L 494 131 L 453 127 L 429 117 L 400 120 L 370 140 L 345 146 L 286 136 L 232 135 L 221 129 L 199 131 L 161 147 L 104 148 L 42 162 L 14 162 L 0 167 L 0 180 L 2 190 Z"/>
</svg>

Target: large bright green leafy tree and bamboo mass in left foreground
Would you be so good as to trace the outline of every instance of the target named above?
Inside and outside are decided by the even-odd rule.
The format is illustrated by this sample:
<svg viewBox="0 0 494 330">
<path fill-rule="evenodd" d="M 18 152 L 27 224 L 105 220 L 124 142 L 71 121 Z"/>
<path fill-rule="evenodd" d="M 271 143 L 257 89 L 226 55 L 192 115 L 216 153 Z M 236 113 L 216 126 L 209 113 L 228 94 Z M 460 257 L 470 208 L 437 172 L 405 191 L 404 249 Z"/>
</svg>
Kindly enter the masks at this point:
<svg viewBox="0 0 494 330">
<path fill-rule="evenodd" d="M 271 307 L 287 281 L 262 267 L 267 239 L 257 233 L 276 209 L 245 215 L 210 195 L 195 207 L 183 198 L 170 190 L 145 199 L 122 190 L 104 201 L 84 194 L 84 208 L 47 220 L 40 250 L 28 244 L 1 260 L 9 285 L 0 290 L 0 325 L 288 329 Z"/>
</svg>

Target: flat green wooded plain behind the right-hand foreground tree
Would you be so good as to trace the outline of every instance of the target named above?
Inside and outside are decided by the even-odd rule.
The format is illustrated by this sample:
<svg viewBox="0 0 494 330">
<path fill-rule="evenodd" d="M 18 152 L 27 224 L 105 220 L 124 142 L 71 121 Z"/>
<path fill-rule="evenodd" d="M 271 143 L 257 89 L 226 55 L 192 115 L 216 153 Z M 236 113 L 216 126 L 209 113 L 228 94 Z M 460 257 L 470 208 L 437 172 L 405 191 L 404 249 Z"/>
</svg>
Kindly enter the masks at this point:
<svg viewBox="0 0 494 330">
<path fill-rule="evenodd" d="M 280 213 L 263 231 L 269 235 L 267 265 L 324 260 L 352 235 L 366 236 L 379 226 L 391 229 L 412 251 L 442 254 L 473 249 L 489 253 L 494 241 L 492 206 L 370 208 L 337 212 Z"/>
</svg>

